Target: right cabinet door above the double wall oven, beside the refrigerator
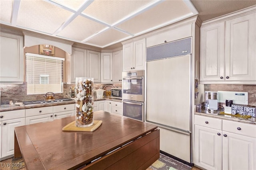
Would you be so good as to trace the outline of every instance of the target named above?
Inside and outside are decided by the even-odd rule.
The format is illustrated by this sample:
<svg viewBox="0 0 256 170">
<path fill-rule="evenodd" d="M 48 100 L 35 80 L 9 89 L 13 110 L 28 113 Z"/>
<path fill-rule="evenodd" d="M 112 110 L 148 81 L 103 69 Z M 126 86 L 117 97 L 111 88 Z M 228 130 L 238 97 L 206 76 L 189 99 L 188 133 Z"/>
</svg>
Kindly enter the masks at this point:
<svg viewBox="0 0 256 170">
<path fill-rule="evenodd" d="M 134 50 L 134 65 L 135 70 L 145 70 L 146 62 L 146 39 L 141 39 L 133 42 Z"/>
</svg>

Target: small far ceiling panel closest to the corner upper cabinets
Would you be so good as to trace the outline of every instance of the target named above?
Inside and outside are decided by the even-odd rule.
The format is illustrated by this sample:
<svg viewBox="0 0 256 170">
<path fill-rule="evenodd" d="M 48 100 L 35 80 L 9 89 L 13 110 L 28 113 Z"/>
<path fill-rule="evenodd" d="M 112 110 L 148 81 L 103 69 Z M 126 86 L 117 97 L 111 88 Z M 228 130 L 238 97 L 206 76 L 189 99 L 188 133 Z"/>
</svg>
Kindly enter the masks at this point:
<svg viewBox="0 0 256 170">
<path fill-rule="evenodd" d="M 130 37 L 130 35 L 122 33 L 116 29 L 108 29 L 103 33 L 96 35 L 92 39 L 88 40 L 86 43 L 88 43 L 89 45 L 97 44 L 99 45 L 99 47 L 104 47 L 106 45 L 118 43 L 119 41 L 123 41 L 124 39 L 128 39 Z"/>
</svg>

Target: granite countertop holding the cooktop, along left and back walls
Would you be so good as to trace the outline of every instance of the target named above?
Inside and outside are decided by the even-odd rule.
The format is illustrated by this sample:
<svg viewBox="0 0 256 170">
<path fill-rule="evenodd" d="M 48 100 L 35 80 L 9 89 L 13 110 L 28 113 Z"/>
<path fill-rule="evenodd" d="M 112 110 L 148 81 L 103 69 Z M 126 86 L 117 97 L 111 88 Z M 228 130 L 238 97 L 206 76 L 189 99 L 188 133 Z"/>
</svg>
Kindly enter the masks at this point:
<svg viewBox="0 0 256 170">
<path fill-rule="evenodd" d="M 121 99 L 114 99 L 114 98 L 111 98 L 110 96 L 104 96 L 103 98 L 94 97 L 94 101 L 102 101 L 102 100 L 112 100 L 116 102 L 122 102 Z M 0 112 L 20 110 L 20 109 L 31 109 L 31 108 L 38 108 L 38 107 L 59 106 L 64 104 L 75 104 L 75 103 L 76 102 L 74 100 L 70 100 L 70 101 L 54 102 L 54 103 L 47 103 L 47 104 L 29 104 L 24 106 L 19 106 L 15 104 L 13 105 L 4 104 L 4 105 L 0 105 Z"/>
</svg>

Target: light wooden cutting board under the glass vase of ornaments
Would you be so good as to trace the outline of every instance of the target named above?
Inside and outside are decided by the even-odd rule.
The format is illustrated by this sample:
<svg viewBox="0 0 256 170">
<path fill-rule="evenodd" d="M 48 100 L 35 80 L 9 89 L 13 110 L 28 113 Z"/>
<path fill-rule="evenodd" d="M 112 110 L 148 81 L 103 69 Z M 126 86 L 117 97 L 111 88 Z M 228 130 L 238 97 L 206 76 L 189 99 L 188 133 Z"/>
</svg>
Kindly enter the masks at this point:
<svg viewBox="0 0 256 170">
<path fill-rule="evenodd" d="M 77 127 L 76 121 L 72 121 L 68 125 L 62 128 L 62 131 L 86 131 L 86 132 L 92 132 L 95 131 L 100 125 L 102 124 L 101 120 L 94 120 L 93 125 L 88 127 Z"/>
</svg>

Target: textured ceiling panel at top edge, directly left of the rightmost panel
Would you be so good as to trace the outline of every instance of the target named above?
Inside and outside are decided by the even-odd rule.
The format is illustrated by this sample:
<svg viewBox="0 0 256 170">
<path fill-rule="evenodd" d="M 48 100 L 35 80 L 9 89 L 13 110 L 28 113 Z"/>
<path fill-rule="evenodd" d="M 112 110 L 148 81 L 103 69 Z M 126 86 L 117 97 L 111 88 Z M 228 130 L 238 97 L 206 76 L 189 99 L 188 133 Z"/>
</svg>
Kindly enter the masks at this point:
<svg viewBox="0 0 256 170">
<path fill-rule="evenodd" d="M 82 13 L 109 25 L 152 4 L 153 0 L 97 0 Z"/>
</svg>

